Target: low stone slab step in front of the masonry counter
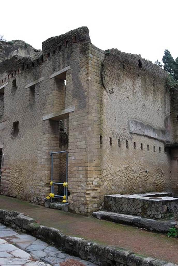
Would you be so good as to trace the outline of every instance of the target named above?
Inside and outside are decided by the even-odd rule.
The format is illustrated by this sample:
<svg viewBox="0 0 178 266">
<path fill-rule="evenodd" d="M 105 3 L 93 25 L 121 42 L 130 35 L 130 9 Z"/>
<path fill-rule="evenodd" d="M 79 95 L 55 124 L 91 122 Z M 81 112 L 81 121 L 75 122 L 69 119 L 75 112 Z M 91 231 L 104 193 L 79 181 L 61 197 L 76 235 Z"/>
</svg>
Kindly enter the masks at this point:
<svg viewBox="0 0 178 266">
<path fill-rule="evenodd" d="M 150 231 L 156 231 L 159 233 L 167 233 L 170 228 L 175 227 L 176 225 L 175 221 L 157 221 L 136 215 L 112 213 L 108 211 L 95 211 L 92 215 L 98 219 L 134 225 L 136 227 L 146 228 Z"/>
</svg>

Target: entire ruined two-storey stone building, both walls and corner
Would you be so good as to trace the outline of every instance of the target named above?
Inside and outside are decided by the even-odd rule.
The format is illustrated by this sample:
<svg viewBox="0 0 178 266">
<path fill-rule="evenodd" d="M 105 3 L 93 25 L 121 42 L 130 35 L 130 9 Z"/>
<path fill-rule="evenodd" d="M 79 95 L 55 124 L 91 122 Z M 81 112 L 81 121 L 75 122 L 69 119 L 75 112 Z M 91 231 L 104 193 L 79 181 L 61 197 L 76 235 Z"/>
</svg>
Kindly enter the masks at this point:
<svg viewBox="0 0 178 266">
<path fill-rule="evenodd" d="M 140 56 L 96 48 L 88 32 L 81 27 L 49 38 L 42 52 L 29 48 L 29 56 L 8 46 L 5 60 L 1 49 L 3 194 L 43 204 L 50 152 L 66 148 L 74 212 L 98 210 L 104 194 L 171 189 L 166 72 Z M 58 182 L 66 174 L 60 156 L 54 158 Z"/>
</svg>

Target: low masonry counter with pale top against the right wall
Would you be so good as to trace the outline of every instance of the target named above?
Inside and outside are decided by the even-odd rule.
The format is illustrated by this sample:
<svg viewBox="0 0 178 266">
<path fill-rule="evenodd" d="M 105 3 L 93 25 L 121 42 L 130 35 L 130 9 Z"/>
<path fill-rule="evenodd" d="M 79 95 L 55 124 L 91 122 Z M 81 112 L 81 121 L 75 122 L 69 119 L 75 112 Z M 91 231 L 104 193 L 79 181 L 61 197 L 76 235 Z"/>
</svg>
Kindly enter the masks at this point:
<svg viewBox="0 0 178 266">
<path fill-rule="evenodd" d="M 151 196 L 150 196 L 151 197 Z M 178 213 L 178 198 L 151 200 L 146 197 L 105 195 L 104 209 L 115 213 L 127 213 L 148 218 L 166 218 Z"/>
</svg>

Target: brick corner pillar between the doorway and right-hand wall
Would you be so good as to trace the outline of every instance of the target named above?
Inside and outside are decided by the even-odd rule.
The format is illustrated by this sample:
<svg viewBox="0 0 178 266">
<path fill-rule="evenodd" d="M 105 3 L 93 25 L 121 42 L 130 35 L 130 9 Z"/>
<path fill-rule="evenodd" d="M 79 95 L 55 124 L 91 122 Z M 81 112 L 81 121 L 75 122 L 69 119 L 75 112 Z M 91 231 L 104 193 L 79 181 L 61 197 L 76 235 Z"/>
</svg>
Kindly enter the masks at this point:
<svg viewBox="0 0 178 266">
<path fill-rule="evenodd" d="M 89 45 L 78 69 L 71 64 L 71 92 L 66 92 L 66 98 L 75 106 L 74 113 L 69 114 L 69 209 L 84 215 L 98 210 L 103 202 L 100 169 L 103 58 L 102 51 L 95 51 Z"/>
</svg>

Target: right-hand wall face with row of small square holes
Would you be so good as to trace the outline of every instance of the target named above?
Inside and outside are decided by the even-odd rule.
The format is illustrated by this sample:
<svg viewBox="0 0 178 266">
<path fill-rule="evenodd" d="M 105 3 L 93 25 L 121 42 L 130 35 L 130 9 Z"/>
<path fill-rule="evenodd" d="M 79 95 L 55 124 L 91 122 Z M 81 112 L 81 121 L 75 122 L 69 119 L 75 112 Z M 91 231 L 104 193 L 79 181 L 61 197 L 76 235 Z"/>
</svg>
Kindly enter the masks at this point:
<svg viewBox="0 0 178 266">
<path fill-rule="evenodd" d="M 169 191 L 166 73 L 140 56 L 112 49 L 106 52 L 102 80 L 103 194 Z"/>
</svg>

